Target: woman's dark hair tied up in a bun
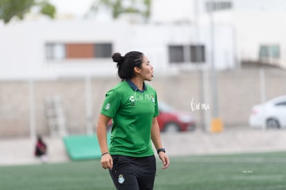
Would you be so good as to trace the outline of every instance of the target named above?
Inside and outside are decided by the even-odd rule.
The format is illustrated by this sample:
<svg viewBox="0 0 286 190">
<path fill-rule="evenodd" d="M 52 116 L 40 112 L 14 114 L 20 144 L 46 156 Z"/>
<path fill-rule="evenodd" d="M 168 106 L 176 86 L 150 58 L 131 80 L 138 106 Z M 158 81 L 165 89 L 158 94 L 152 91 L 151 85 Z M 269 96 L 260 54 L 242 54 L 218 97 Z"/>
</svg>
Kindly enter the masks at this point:
<svg viewBox="0 0 286 190">
<path fill-rule="evenodd" d="M 135 76 L 134 68 L 142 68 L 143 53 L 131 51 L 122 57 L 120 53 L 114 53 L 112 59 L 117 63 L 118 75 L 120 79 L 131 79 Z"/>
</svg>

